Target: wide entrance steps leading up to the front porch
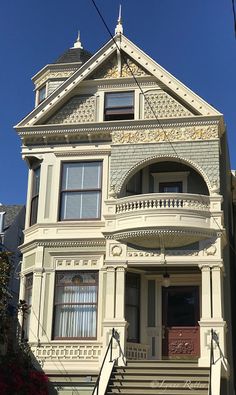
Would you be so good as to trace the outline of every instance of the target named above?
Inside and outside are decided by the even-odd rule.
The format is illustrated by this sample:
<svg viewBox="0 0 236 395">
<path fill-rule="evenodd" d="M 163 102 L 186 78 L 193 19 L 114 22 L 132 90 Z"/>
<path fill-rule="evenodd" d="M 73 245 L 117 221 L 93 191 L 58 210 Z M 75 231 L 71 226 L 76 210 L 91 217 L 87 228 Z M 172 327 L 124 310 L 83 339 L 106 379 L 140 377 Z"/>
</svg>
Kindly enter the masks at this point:
<svg viewBox="0 0 236 395">
<path fill-rule="evenodd" d="M 207 395 L 208 387 L 209 368 L 196 362 L 130 360 L 114 367 L 106 394 Z"/>
</svg>

